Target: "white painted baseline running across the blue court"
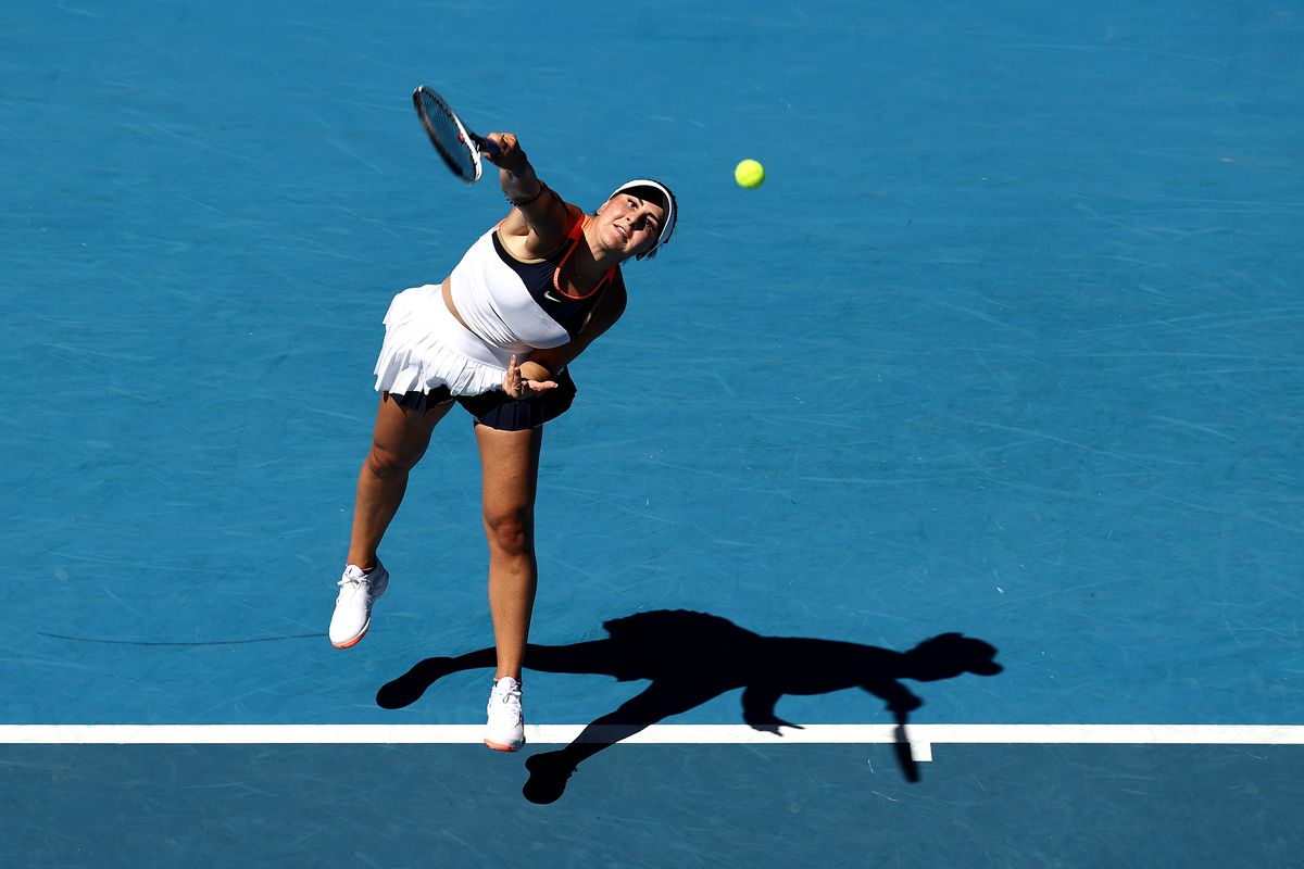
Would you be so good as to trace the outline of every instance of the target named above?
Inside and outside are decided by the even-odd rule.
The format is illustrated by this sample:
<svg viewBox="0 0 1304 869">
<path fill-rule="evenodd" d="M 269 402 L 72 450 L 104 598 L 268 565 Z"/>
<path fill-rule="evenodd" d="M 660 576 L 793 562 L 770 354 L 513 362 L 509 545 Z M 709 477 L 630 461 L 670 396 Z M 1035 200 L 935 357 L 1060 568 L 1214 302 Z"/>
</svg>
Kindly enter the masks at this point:
<svg viewBox="0 0 1304 869">
<path fill-rule="evenodd" d="M 571 743 L 583 724 L 528 724 L 535 745 Z M 480 724 L 0 724 L 9 745 L 479 744 Z M 618 737 L 597 730 L 595 741 Z M 940 744 L 979 745 L 1304 745 L 1296 724 L 910 724 L 910 752 L 932 760 Z M 653 724 L 622 744 L 810 745 L 896 741 L 892 724 L 808 724 L 782 736 L 746 724 Z"/>
</svg>

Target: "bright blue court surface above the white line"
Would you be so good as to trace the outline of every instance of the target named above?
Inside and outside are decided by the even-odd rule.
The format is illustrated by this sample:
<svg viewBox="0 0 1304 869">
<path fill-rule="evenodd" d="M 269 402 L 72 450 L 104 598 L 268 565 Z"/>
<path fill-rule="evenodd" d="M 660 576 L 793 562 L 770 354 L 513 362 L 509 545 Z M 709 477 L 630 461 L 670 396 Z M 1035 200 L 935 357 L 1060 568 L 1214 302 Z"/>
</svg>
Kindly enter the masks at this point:
<svg viewBox="0 0 1304 869">
<path fill-rule="evenodd" d="M 486 672 L 374 700 L 490 638 L 464 420 L 372 634 L 319 636 L 381 317 L 503 211 L 429 151 L 425 81 L 576 202 L 649 173 L 682 208 L 549 427 L 535 641 L 662 608 L 893 651 L 956 631 L 1005 670 L 914 685 L 918 720 L 1299 723 L 1300 21 L 8 5 L 0 719 L 482 714 Z M 643 687 L 535 674 L 528 702 L 583 723 Z M 777 713 L 887 720 L 861 691 Z M 675 720 L 739 722 L 738 693 Z"/>
</svg>

